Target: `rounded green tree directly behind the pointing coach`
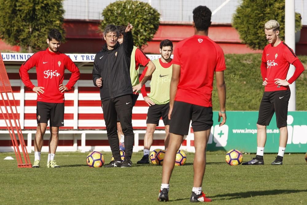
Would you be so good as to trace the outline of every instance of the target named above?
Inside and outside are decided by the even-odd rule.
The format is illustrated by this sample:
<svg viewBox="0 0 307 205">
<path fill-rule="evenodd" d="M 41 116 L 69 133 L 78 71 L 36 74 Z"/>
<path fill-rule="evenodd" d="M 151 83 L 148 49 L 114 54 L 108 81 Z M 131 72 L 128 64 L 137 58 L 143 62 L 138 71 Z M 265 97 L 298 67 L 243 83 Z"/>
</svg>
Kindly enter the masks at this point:
<svg viewBox="0 0 307 205">
<path fill-rule="evenodd" d="M 124 25 L 132 24 L 134 45 L 141 47 L 147 41 L 153 39 L 153 35 L 159 28 L 160 14 L 148 3 L 140 1 L 117 1 L 109 4 L 102 12 L 104 17 L 100 29 L 108 24 Z"/>
</svg>

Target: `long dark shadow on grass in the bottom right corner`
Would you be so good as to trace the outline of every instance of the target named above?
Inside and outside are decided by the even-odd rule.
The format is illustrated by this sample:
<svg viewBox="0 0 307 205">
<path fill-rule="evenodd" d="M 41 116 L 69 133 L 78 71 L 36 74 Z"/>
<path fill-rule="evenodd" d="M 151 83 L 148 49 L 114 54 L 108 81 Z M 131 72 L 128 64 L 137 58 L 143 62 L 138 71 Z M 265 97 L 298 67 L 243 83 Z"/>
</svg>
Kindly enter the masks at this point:
<svg viewBox="0 0 307 205">
<path fill-rule="evenodd" d="M 229 199 L 240 199 L 240 198 L 250 198 L 254 196 L 263 196 L 263 195 L 278 195 L 278 194 L 291 194 L 297 192 L 307 192 L 307 190 L 286 190 L 286 189 L 273 189 L 265 191 L 246 191 L 246 192 L 237 192 L 229 194 L 218 194 L 215 196 L 210 196 L 210 198 L 221 197 L 222 199 L 216 200 L 229 200 Z M 223 197 L 226 197 L 223 199 Z"/>
</svg>

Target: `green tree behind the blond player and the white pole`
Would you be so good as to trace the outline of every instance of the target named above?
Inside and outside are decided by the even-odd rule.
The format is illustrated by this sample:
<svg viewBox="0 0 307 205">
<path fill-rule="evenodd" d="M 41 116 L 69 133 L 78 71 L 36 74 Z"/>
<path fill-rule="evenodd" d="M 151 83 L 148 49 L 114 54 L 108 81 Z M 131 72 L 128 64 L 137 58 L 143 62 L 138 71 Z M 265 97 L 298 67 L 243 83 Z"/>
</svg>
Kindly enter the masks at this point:
<svg viewBox="0 0 307 205">
<path fill-rule="evenodd" d="M 243 43 L 252 49 L 267 45 L 264 24 L 274 19 L 280 24 L 280 38 L 285 37 L 285 0 L 243 0 L 232 18 L 232 26 L 238 30 Z M 301 15 L 295 13 L 295 31 L 301 30 Z"/>
</svg>

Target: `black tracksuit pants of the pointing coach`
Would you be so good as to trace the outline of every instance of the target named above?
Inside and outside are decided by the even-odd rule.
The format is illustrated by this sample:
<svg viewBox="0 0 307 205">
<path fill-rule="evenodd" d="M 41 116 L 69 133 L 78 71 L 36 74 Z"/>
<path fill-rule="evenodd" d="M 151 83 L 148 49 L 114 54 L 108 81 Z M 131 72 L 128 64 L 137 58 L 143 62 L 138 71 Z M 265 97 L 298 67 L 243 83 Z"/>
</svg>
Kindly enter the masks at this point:
<svg viewBox="0 0 307 205">
<path fill-rule="evenodd" d="M 108 141 L 115 161 L 121 161 L 119 139 L 117 134 L 117 115 L 125 135 L 125 159 L 131 160 L 134 133 L 132 128 L 132 94 L 119 96 L 107 101 L 102 101 L 103 117 L 106 122 Z"/>
</svg>

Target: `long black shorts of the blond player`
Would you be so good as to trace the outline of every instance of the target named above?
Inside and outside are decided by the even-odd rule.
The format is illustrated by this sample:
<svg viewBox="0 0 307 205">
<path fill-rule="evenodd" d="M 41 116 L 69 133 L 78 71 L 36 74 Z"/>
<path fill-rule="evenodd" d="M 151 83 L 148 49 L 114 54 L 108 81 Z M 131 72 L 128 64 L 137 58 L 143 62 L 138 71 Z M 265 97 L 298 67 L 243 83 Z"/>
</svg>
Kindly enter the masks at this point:
<svg viewBox="0 0 307 205">
<path fill-rule="evenodd" d="M 290 90 L 264 92 L 259 107 L 257 124 L 269 125 L 275 112 L 277 127 L 286 127 L 290 95 Z"/>
</svg>

